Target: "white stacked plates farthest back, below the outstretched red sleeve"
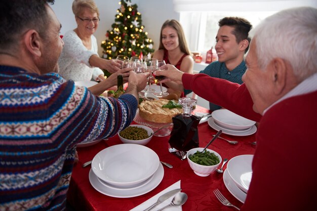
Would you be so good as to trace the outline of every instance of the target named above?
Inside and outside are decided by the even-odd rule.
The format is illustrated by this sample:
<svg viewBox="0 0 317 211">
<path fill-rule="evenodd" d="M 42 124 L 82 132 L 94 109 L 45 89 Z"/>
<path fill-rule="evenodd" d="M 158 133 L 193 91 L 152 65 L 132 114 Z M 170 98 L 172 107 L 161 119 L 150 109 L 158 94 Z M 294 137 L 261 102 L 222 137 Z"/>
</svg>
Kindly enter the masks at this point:
<svg viewBox="0 0 317 211">
<path fill-rule="evenodd" d="M 226 109 L 216 110 L 208 119 L 208 124 L 213 129 L 222 130 L 224 134 L 234 136 L 247 136 L 256 132 L 255 122 L 241 117 Z"/>
</svg>

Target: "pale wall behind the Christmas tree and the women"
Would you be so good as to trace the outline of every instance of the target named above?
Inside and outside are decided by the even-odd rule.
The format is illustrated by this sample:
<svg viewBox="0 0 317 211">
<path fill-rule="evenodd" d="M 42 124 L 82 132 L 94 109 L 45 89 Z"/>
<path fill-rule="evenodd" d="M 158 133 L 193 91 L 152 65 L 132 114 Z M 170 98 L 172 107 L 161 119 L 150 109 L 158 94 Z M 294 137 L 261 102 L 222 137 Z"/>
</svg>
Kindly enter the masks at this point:
<svg viewBox="0 0 317 211">
<path fill-rule="evenodd" d="M 72 0 L 56 0 L 52 9 L 62 24 L 61 34 L 76 28 L 76 22 L 71 10 Z M 98 42 L 98 53 L 102 55 L 101 41 L 105 39 L 107 30 L 111 29 L 114 23 L 116 10 L 120 8 L 119 0 L 95 0 L 99 13 L 100 23 L 97 32 L 94 34 Z M 179 20 L 179 13 L 174 11 L 171 0 L 132 0 L 132 4 L 137 4 L 141 13 L 142 25 L 148 32 L 148 37 L 154 42 L 154 49 L 159 48 L 160 31 L 162 24 L 167 19 Z"/>
</svg>

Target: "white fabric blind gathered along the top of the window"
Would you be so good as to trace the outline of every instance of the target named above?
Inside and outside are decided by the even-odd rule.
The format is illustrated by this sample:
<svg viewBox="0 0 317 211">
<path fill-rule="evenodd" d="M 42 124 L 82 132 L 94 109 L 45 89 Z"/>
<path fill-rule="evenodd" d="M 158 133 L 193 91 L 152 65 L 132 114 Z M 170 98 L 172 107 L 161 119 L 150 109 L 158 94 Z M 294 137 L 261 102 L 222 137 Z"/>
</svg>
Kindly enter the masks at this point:
<svg viewBox="0 0 317 211">
<path fill-rule="evenodd" d="M 292 7 L 317 8 L 317 0 L 173 0 L 176 12 L 280 11 Z"/>
</svg>

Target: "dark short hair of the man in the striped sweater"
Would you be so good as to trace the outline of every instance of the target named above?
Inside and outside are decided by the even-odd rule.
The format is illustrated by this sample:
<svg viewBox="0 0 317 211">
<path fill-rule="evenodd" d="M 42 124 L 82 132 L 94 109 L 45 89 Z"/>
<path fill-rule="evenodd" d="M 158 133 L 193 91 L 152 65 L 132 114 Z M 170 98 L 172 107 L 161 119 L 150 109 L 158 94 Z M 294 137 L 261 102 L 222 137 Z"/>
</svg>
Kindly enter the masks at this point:
<svg viewBox="0 0 317 211">
<path fill-rule="evenodd" d="M 46 4 L 54 0 L 1 0 L 0 50 L 16 44 L 24 30 L 35 29 L 45 38 L 49 25 Z"/>
</svg>

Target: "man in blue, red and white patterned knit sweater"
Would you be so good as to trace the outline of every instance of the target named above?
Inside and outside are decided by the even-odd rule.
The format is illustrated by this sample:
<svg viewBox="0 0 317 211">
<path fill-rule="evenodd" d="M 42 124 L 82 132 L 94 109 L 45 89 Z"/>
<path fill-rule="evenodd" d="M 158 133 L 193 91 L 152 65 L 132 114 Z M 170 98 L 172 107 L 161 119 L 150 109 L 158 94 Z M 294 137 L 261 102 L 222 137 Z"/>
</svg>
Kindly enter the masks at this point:
<svg viewBox="0 0 317 211">
<path fill-rule="evenodd" d="M 76 144 L 129 126 L 149 76 L 131 72 L 118 99 L 65 81 L 61 24 L 48 3 L 0 2 L 0 210 L 65 209 Z"/>
</svg>

